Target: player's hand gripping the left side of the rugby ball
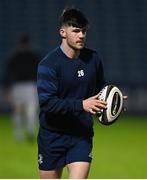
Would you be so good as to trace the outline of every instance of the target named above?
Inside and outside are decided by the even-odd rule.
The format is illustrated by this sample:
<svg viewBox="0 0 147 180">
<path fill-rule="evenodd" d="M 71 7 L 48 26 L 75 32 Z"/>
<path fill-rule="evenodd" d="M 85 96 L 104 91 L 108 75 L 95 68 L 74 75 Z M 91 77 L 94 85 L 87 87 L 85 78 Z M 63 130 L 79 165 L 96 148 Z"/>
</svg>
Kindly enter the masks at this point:
<svg viewBox="0 0 147 180">
<path fill-rule="evenodd" d="M 107 109 L 107 102 L 98 99 L 99 94 L 83 100 L 83 109 L 91 114 L 96 114 L 101 109 Z"/>
</svg>

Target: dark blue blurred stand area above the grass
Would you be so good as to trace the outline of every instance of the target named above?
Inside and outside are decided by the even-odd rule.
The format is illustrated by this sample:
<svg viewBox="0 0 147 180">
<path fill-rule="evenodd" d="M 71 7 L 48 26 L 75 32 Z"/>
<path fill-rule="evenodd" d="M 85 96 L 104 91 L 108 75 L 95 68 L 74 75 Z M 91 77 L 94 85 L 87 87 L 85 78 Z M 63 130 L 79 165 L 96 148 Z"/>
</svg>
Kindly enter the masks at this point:
<svg viewBox="0 0 147 180">
<path fill-rule="evenodd" d="M 128 113 L 146 113 L 146 0 L 0 0 L 1 87 L 7 59 L 19 34 L 30 33 L 34 49 L 45 56 L 60 44 L 58 17 L 71 5 L 88 17 L 86 45 L 102 54 L 108 83 L 129 95 Z M 3 101 L 1 98 L 0 103 Z"/>
</svg>

